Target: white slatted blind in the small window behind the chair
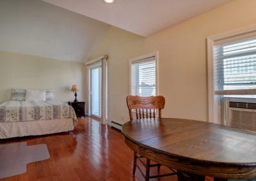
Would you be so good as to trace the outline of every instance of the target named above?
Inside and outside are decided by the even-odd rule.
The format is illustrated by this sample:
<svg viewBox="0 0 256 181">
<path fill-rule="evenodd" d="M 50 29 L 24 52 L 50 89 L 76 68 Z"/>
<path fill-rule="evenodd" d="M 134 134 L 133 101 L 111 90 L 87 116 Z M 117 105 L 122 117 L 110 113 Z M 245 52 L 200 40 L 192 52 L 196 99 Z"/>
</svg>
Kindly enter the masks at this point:
<svg viewBox="0 0 256 181">
<path fill-rule="evenodd" d="M 131 62 L 131 94 L 156 96 L 156 57 Z"/>
</svg>

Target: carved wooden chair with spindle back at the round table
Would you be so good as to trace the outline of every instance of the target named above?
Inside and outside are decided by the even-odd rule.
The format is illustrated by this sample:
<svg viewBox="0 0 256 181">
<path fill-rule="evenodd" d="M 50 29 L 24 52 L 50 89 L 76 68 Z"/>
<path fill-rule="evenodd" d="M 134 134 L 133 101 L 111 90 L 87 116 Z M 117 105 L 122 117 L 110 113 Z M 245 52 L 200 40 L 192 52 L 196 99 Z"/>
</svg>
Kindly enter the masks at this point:
<svg viewBox="0 0 256 181">
<path fill-rule="evenodd" d="M 156 118 L 157 110 L 158 117 L 161 118 L 161 110 L 164 108 L 165 99 L 163 96 L 150 96 L 150 97 L 140 97 L 140 96 L 127 96 L 127 106 L 129 109 L 130 120 L 133 119 L 133 112 L 135 110 L 136 119 L 144 119 L 144 118 Z M 160 171 L 160 164 L 150 164 L 150 160 L 146 158 L 146 163 L 142 160 L 142 156 L 134 152 L 134 161 L 132 168 L 132 175 L 135 175 L 136 167 L 143 175 L 145 180 L 149 180 L 149 178 L 157 178 L 157 177 L 165 177 L 169 175 L 176 175 L 176 172 L 162 174 L 162 175 L 153 175 L 150 176 L 150 168 L 157 166 L 157 172 Z M 144 174 L 141 170 L 140 166 L 138 166 L 137 159 L 141 161 L 143 166 L 146 168 L 146 173 Z M 174 171 L 174 170 L 172 170 Z"/>
</svg>

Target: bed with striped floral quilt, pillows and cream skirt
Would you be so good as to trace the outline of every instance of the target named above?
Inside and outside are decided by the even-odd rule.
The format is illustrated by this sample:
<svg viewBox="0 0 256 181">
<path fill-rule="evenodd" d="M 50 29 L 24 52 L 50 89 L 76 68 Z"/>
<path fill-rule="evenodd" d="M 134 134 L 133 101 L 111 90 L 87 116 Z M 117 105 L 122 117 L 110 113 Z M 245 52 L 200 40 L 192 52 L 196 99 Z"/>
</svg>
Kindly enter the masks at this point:
<svg viewBox="0 0 256 181">
<path fill-rule="evenodd" d="M 25 94 L 28 94 L 28 90 Z M 0 105 L 0 139 L 74 129 L 77 117 L 72 106 L 54 101 L 53 96 L 52 99 L 38 99 L 38 94 L 34 96 L 31 100 L 28 96 L 20 96 L 20 93 L 16 97 L 12 94 L 12 101 Z"/>
</svg>

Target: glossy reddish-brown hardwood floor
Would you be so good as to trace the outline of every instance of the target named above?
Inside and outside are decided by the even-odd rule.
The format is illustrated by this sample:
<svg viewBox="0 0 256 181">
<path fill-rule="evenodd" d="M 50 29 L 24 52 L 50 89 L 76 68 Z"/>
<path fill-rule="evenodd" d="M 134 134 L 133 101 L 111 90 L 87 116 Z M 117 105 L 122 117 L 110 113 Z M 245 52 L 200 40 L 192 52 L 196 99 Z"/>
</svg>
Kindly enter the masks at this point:
<svg viewBox="0 0 256 181">
<path fill-rule="evenodd" d="M 69 133 L 12 138 L 0 143 L 20 141 L 28 145 L 47 144 L 51 158 L 29 163 L 26 173 L 1 180 L 143 180 L 139 171 L 132 177 L 133 154 L 125 145 L 122 133 L 88 117 L 79 119 L 74 131 Z"/>
</svg>

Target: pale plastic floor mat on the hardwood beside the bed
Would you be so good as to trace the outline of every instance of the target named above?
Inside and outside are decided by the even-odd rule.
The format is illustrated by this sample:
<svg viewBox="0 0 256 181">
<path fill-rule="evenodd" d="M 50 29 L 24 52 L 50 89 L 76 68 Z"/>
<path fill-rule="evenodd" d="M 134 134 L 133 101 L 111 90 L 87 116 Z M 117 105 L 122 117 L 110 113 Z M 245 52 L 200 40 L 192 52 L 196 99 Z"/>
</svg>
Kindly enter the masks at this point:
<svg viewBox="0 0 256 181">
<path fill-rule="evenodd" d="M 49 159 L 47 145 L 31 145 L 26 142 L 0 145 L 0 178 L 20 175 L 27 164 Z"/>
</svg>

